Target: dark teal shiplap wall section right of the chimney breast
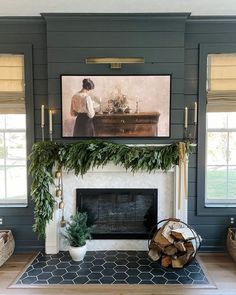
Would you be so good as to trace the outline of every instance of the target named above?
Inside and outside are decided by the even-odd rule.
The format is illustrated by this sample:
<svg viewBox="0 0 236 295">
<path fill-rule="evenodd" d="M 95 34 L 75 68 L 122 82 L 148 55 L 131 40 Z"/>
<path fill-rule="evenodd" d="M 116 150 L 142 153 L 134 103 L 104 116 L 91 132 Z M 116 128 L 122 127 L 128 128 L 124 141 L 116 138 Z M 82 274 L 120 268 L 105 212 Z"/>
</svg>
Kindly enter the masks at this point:
<svg viewBox="0 0 236 295">
<path fill-rule="evenodd" d="M 236 42 L 236 18 L 208 18 L 192 17 L 186 22 L 185 32 L 185 103 L 193 105 L 198 100 L 199 94 L 199 46 L 200 44 L 228 44 Z M 217 46 L 216 46 L 217 47 Z M 199 120 L 203 119 L 204 113 L 199 114 Z M 203 136 L 204 130 L 199 130 L 199 136 Z M 200 158 L 201 161 L 201 158 Z M 204 163 L 202 165 L 204 167 Z M 191 174 L 192 171 L 192 174 Z M 201 173 L 201 171 L 200 171 Z M 200 184 L 201 185 L 201 184 Z M 202 184 L 204 185 L 204 184 Z M 205 250 L 221 250 L 225 247 L 226 228 L 230 217 L 227 209 L 220 215 L 198 215 L 197 201 L 200 197 L 197 191 L 197 157 L 191 156 L 189 169 L 189 223 L 202 235 Z"/>
</svg>

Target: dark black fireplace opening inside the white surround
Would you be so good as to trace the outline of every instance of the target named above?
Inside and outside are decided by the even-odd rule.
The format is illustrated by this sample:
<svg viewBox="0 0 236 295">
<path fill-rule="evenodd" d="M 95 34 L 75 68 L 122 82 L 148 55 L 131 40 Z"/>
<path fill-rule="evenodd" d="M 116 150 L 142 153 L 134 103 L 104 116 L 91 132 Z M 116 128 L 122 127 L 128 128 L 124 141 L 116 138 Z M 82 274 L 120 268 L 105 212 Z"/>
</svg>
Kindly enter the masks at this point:
<svg viewBox="0 0 236 295">
<path fill-rule="evenodd" d="M 157 223 L 156 189 L 77 189 L 95 239 L 148 239 Z"/>
</svg>

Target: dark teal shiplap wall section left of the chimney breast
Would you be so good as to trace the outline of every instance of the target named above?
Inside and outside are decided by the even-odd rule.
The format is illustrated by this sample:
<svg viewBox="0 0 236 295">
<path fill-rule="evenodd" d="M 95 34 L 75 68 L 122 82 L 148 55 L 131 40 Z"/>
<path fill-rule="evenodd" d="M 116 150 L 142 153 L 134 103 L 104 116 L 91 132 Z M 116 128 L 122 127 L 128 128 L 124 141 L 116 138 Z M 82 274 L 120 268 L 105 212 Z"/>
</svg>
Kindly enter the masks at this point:
<svg viewBox="0 0 236 295">
<path fill-rule="evenodd" d="M 34 110 L 42 103 L 47 104 L 47 48 L 46 24 L 41 18 L 0 18 L 0 46 L 12 46 L 17 50 L 19 44 L 32 46 Z M 28 126 L 34 129 L 34 126 Z M 32 231 L 33 204 L 27 208 L 0 208 L 3 225 L 0 229 L 11 229 L 18 251 L 29 251 L 43 246 Z"/>
</svg>

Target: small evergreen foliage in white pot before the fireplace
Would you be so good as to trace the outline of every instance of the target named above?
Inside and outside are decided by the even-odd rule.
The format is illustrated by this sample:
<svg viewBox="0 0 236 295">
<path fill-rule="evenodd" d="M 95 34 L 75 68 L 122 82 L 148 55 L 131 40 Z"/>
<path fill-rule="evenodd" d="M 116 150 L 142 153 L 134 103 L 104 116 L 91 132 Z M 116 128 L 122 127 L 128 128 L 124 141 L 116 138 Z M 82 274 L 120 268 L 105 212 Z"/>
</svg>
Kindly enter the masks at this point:
<svg viewBox="0 0 236 295">
<path fill-rule="evenodd" d="M 71 216 L 63 234 L 70 246 L 82 247 L 86 244 L 86 240 L 91 239 L 91 229 L 87 226 L 87 219 L 86 212 L 78 212 Z"/>
</svg>

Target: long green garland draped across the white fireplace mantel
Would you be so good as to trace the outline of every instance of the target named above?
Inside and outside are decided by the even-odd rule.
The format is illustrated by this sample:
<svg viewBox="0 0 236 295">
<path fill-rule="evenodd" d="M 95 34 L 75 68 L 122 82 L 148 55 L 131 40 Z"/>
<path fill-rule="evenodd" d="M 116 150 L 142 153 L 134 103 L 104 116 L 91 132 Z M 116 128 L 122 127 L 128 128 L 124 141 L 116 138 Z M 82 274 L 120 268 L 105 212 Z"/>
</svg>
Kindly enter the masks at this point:
<svg viewBox="0 0 236 295">
<path fill-rule="evenodd" d="M 186 153 L 191 152 L 185 143 Z M 84 175 L 89 169 L 105 166 L 108 162 L 132 172 L 167 171 L 179 163 L 179 143 L 163 146 L 128 146 L 103 140 L 79 143 L 38 142 L 29 156 L 32 176 L 31 197 L 35 203 L 33 230 L 45 238 L 45 227 L 52 219 L 55 200 L 50 193 L 54 184 L 53 167 Z"/>
</svg>

